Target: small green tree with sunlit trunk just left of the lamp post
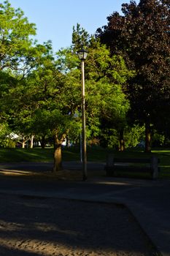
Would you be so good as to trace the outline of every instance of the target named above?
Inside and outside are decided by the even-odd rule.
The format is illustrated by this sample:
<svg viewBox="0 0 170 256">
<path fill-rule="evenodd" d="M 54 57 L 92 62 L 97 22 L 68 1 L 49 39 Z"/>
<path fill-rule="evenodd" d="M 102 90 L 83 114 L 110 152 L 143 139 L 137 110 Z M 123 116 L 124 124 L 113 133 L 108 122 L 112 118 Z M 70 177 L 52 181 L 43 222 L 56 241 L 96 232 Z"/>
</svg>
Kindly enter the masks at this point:
<svg viewBox="0 0 170 256">
<path fill-rule="evenodd" d="M 39 74 L 39 83 L 37 83 L 37 78 L 35 80 L 36 90 L 37 86 L 39 87 L 36 94 L 38 108 L 35 111 L 35 120 L 37 120 L 39 129 L 49 130 L 53 135 L 53 171 L 56 172 L 62 169 L 61 146 L 63 141 L 72 130 L 79 128 L 74 118 L 79 97 L 76 97 L 78 91 L 76 91 L 75 78 L 73 79 L 70 74 L 63 75 L 55 69 L 55 66 L 53 70 L 46 67 L 45 72 L 47 71 L 50 71 L 48 75 Z"/>
</svg>

